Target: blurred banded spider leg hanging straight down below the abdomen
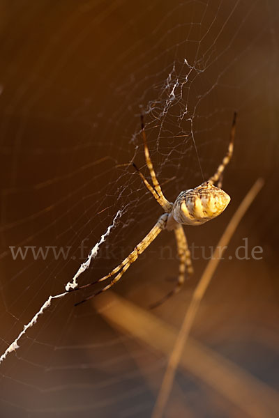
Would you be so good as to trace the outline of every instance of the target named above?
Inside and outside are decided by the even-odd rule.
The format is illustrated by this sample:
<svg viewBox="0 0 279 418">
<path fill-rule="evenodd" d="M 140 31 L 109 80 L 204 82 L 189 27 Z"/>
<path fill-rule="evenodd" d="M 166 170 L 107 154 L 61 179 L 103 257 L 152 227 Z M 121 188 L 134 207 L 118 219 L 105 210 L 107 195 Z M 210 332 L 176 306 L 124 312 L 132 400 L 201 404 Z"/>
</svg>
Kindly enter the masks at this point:
<svg viewBox="0 0 279 418">
<path fill-rule="evenodd" d="M 186 270 L 188 274 L 193 274 L 194 272 L 192 261 L 191 261 L 191 254 L 188 249 L 188 243 L 187 243 L 185 232 L 183 230 L 183 226 L 182 225 L 177 226 L 176 229 L 174 229 L 174 233 L 175 233 L 175 238 L 176 238 L 177 252 L 179 255 L 179 277 L 177 279 L 177 284 L 172 289 L 172 291 L 167 293 L 167 295 L 162 297 L 162 299 L 158 300 L 158 302 L 152 304 L 150 307 L 151 309 L 154 309 L 160 306 L 160 304 L 163 304 L 163 302 L 169 299 L 169 297 L 172 297 L 173 295 L 175 295 L 181 290 L 185 281 Z"/>
</svg>

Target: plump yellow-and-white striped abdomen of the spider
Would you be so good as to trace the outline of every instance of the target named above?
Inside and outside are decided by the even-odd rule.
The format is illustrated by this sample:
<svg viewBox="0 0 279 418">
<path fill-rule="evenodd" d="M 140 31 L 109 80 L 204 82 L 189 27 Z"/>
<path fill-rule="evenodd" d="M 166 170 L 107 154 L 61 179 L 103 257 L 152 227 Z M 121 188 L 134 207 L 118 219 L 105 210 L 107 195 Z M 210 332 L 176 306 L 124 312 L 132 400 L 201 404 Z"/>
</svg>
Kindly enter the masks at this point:
<svg viewBox="0 0 279 418">
<path fill-rule="evenodd" d="M 174 202 L 172 216 L 179 224 L 200 225 L 220 215 L 231 198 L 219 187 L 207 181 L 181 192 Z"/>
</svg>

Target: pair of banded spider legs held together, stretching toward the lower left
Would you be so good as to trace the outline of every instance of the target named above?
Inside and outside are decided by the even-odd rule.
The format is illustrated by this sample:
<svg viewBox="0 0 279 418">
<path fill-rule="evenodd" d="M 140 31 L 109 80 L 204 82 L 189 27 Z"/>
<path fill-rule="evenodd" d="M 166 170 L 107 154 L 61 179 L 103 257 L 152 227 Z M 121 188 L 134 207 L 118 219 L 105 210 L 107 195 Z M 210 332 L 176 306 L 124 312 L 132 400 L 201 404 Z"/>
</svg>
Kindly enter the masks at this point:
<svg viewBox="0 0 279 418">
<path fill-rule="evenodd" d="M 137 260 L 138 256 L 140 256 L 140 254 L 142 254 L 144 250 L 147 247 L 149 247 L 151 242 L 155 240 L 155 238 L 159 235 L 159 233 L 165 229 L 165 226 L 167 224 L 167 216 L 168 216 L 167 213 L 164 213 L 162 216 L 160 216 L 160 218 L 158 219 L 158 222 L 156 222 L 156 224 L 153 226 L 151 231 L 149 231 L 149 233 L 144 237 L 144 239 L 139 244 L 137 244 L 135 249 L 133 249 L 133 251 L 128 255 L 128 257 L 126 257 L 119 265 L 117 265 L 116 268 L 114 268 L 109 274 L 107 274 L 104 277 L 101 277 L 101 279 L 98 279 L 89 284 L 76 288 L 75 291 L 78 291 L 82 288 L 86 288 L 86 287 L 92 286 L 93 284 L 99 283 L 100 281 L 104 281 L 105 279 L 108 279 L 109 277 L 112 277 L 114 276 L 114 274 L 118 273 L 114 277 L 114 279 L 112 279 L 112 281 L 110 281 L 110 283 L 107 284 L 107 286 L 100 289 L 100 291 L 93 293 L 93 295 L 86 297 L 84 300 L 77 302 L 75 306 L 83 302 L 86 302 L 86 300 L 89 300 L 92 297 L 99 295 L 100 293 L 107 291 L 107 289 L 111 288 L 114 284 L 116 284 L 116 281 L 119 281 L 119 279 L 121 279 L 123 274 L 130 267 L 130 265 Z"/>
</svg>

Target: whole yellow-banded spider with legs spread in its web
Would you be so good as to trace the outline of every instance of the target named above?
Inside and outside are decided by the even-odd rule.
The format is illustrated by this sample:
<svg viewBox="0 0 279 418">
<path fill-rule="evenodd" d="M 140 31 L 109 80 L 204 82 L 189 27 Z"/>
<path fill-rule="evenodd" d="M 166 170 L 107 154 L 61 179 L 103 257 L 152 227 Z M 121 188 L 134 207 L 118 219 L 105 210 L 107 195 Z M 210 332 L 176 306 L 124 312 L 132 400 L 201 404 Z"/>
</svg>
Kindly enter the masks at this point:
<svg viewBox="0 0 279 418">
<path fill-rule="evenodd" d="M 225 167 L 229 163 L 229 160 L 231 159 L 234 150 L 236 112 L 234 113 L 234 118 L 232 121 L 232 128 L 230 132 L 230 140 L 227 153 L 223 158 L 223 161 L 219 165 L 216 173 L 213 176 L 211 176 L 209 180 L 204 181 L 204 183 L 195 187 L 195 189 L 188 189 L 181 192 L 179 196 L 176 197 L 174 203 L 169 202 L 165 198 L 160 184 L 157 180 L 156 173 L 153 169 L 153 164 L 151 162 L 149 148 L 147 146 L 146 141 L 143 116 L 141 116 L 141 125 L 142 138 L 144 142 L 145 160 L 146 165 L 149 168 L 153 185 L 151 185 L 146 180 L 144 175 L 140 172 L 139 169 L 137 169 L 137 166 L 135 164 L 133 164 L 133 166 L 142 178 L 144 185 L 146 185 L 147 189 L 149 189 L 149 192 L 153 194 L 154 199 L 156 199 L 159 205 L 162 206 L 165 213 L 159 217 L 158 221 L 153 226 L 151 231 L 149 231 L 149 233 L 143 238 L 143 240 L 135 246 L 135 248 L 128 255 L 128 257 L 126 257 L 119 265 L 117 265 L 116 268 L 114 268 L 106 276 L 75 289 L 80 290 L 82 288 L 87 288 L 89 286 L 92 286 L 93 284 L 99 283 L 100 281 L 104 281 L 106 279 L 110 279 L 110 277 L 113 277 L 113 279 L 110 281 L 109 284 L 107 284 L 107 286 L 104 286 L 100 289 L 100 291 L 97 291 L 92 295 L 89 295 L 84 300 L 77 302 L 75 305 L 86 302 L 86 300 L 89 300 L 92 297 L 110 289 L 114 284 L 116 284 L 117 281 L 121 279 L 123 274 L 130 267 L 130 265 L 135 263 L 138 256 L 140 256 L 140 254 L 142 254 L 144 250 L 147 247 L 149 247 L 151 242 L 153 242 L 153 240 L 156 239 L 156 237 L 159 235 L 161 231 L 174 231 L 177 251 L 179 255 L 178 279 L 176 282 L 176 286 L 174 287 L 174 289 L 172 289 L 172 291 L 167 293 L 167 295 L 165 295 L 165 297 L 163 297 L 161 300 L 151 305 L 151 309 L 154 307 L 158 307 L 160 304 L 165 302 L 165 300 L 169 299 L 169 297 L 171 297 L 175 293 L 178 293 L 181 290 L 181 287 L 183 286 L 183 283 L 185 281 L 186 271 L 188 274 L 193 274 L 194 272 L 186 235 L 183 230 L 183 225 L 202 225 L 205 222 L 208 222 L 211 219 L 220 215 L 229 204 L 230 197 L 226 192 L 224 192 L 223 189 L 221 189 L 221 187 L 223 182 L 223 172 L 225 170 Z M 214 183 L 217 182 L 218 187 L 214 186 Z"/>
</svg>

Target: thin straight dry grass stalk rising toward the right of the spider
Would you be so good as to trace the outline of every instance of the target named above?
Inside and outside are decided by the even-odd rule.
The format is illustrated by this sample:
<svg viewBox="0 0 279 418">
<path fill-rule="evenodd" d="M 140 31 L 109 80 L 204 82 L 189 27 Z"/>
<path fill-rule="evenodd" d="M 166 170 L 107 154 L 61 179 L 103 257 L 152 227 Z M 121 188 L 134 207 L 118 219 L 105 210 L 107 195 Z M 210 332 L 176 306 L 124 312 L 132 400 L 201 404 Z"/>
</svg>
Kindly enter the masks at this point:
<svg viewBox="0 0 279 418">
<path fill-rule="evenodd" d="M 163 382 L 160 387 L 158 398 L 156 400 L 156 404 L 154 406 L 151 418 L 161 418 L 163 416 L 165 405 L 167 404 L 169 394 L 172 390 L 172 385 L 174 382 L 176 369 L 177 369 L 177 366 L 179 365 L 179 361 L 183 353 L 183 347 L 186 343 L 186 339 L 188 338 L 190 329 L 193 325 L 202 297 L 204 296 L 204 293 L 206 289 L 208 288 L 209 283 L 213 277 L 213 274 L 220 262 L 220 258 L 222 257 L 223 251 L 220 251 L 219 249 L 220 248 L 225 249 L 225 247 L 229 243 L 229 240 L 232 238 L 234 231 L 239 225 L 239 222 L 241 221 L 243 215 L 245 215 L 250 204 L 259 193 L 259 190 L 262 189 L 263 185 L 264 185 L 264 180 L 262 180 L 262 178 L 259 178 L 255 182 L 255 184 L 252 186 L 252 188 L 250 189 L 246 197 L 241 202 L 239 208 L 234 213 L 234 216 L 230 220 L 229 224 L 227 225 L 227 228 L 225 229 L 225 232 L 220 238 L 220 241 L 218 242 L 218 245 L 213 253 L 213 256 L 211 260 L 209 261 L 208 265 L 206 266 L 206 269 L 204 270 L 204 273 L 202 274 L 202 277 L 199 280 L 197 287 L 195 288 L 195 292 L 193 294 L 192 300 L 186 311 L 186 315 L 183 319 L 183 323 L 181 325 L 179 335 L 177 336 L 176 342 L 174 344 L 172 354 L 169 357 L 169 362 L 167 364 L 165 376 L 163 378 Z"/>
</svg>

